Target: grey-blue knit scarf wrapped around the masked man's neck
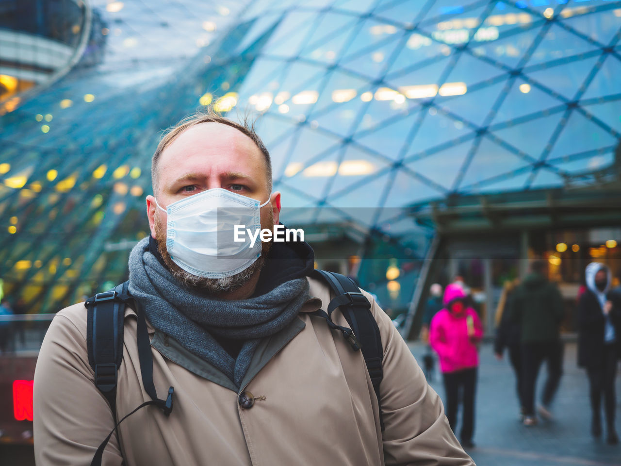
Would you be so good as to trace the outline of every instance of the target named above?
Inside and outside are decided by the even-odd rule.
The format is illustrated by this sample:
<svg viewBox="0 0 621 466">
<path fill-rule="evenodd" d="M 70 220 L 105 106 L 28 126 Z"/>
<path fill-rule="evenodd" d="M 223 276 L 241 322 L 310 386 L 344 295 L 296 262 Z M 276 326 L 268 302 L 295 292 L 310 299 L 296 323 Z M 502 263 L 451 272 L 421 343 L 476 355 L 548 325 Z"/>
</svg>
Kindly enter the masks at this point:
<svg viewBox="0 0 621 466">
<path fill-rule="evenodd" d="M 286 327 L 309 298 L 306 278 L 240 301 L 199 295 L 181 286 L 149 252 L 148 244 L 147 237 L 129 255 L 129 292 L 140 301 L 153 327 L 219 368 L 237 387 L 260 340 Z M 212 335 L 243 340 L 237 359 Z"/>
</svg>

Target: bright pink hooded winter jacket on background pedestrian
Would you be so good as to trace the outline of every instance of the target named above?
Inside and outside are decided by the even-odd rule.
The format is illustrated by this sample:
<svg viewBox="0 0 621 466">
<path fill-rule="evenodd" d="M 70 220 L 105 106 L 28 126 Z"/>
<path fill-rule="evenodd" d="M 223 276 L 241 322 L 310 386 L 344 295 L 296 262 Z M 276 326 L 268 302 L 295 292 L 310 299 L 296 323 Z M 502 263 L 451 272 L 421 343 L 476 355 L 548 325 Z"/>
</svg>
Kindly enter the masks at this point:
<svg viewBox="0 0 621 466">
<path fill-rule="evenodd" d="M 460 317 L 455 317 L 447 309 L 448 303 L 453 299 L 465 297 L 461 286 L 455 284 L 446 286 L 443 298 L 445 308 L 438 311 L 431 321 L 429 344 L 440 358 L 442 372 L 455 372 L 479 365 L 476 343 L 483 337 L 483 326 L 479 316 L 473 308 L 466 308 L 466 312 Z M 468 316 L 472 316 L 473 337 L 468 337 Z"/>
</svg>

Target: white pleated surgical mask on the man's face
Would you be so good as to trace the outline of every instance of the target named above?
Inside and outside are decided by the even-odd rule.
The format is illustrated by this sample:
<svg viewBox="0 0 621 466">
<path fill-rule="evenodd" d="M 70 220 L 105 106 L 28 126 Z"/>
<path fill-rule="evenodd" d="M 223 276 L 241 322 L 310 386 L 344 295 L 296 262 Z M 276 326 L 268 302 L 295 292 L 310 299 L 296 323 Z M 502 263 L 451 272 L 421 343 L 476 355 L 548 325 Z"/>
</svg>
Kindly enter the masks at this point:
<svg viewBox="0 0 621 466">
<path fill-rule="evenodd" d="M 261 229 L 256 199 L 213 188 L 168 204 L 166 250 L 179 267 L 196 276 L 222 278 L 247 269 L 261 256 L 261 241 L 235 242 L 235 225 L 255 233 Z"/>
</svg>

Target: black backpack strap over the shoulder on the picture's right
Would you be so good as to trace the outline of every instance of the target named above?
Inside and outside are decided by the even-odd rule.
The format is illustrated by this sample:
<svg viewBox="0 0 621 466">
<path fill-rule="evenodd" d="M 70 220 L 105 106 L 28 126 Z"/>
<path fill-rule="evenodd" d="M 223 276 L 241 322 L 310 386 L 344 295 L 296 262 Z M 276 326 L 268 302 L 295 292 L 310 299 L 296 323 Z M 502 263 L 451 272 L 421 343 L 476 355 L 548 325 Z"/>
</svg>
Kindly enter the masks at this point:
<svg viewBox="0 0 621 466">
<path fill-rule="evenodd" d="M 361 349 L 365 358 L 366 368 L 373 383 L 373 390 L 378 398 L 380 424 L 384 430 L 384 422 L 381 418 L 381 401 L 379 397 L 379 385 L 384 377 L 382 361 L 384 359 L 384 347 L 379 334 L 378 322 L 371 313 L 371 303 L 366 299 L 358 288 L 358 285 L 351 278 L 340 273 L 327 272 L 325 270 L 314 270 L 314 275 L 322 278 L 330 285 L 335 297 L 328 304 L 328 311 L 315 311 L 315 315 L 324 318 L 331 328 L 337 328 L 343 332 L 354 350 Z M 350 325 L 350 329 L 337 326 L 332 322 L 332 313 L 336 308 L 341 309 L 341 313 Z M 353 336 L 348 335 L 347 331 Z"/>
</svg>

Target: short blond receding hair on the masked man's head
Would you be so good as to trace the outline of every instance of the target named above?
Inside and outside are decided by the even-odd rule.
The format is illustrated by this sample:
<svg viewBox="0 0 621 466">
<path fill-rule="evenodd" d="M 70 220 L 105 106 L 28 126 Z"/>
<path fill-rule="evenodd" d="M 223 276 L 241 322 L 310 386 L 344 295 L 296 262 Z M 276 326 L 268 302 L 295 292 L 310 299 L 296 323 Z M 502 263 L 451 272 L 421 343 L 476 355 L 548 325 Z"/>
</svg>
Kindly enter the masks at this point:
<svg viewBox="0 0 621 466">
<path fill-rule="evenodd" d="M 156 190 L 158 188 L 157 168 L 158 163 L 160 162 L 161 153 L 164 152 L 166 147 L 171 145 L 175 139 L 177 139 L 179 134 L 184 132 L 189 127 L 201 123 L 220 123 L 231 126 L 252 139 L 256 144 L 256 147 L 258 147 L 261 153 L 263 153 L 263 157 L 265 157 L 265 175 L 268 181 L 268 190 L 271 193 L 272 170 L 270 152 L 268 152 L 265 144 L 263 144 L 263 140 L 261 140 L 259 135 L 255 132 L 255 121 L 251 120 L 248 116 L 244 116 L 242 122 L 238 123 L 237 121 L 233 121 L 230 118 L 220 115 L 211 106 L 208 106 L 204 111 L 199 111 L 185 117 L 183 120 L 178 122 L 178 124 L 171 126 L 162 134 L 160 143 L 155 149 L 155 153 L 153 153 L 153 157 L 151 159 L 151 185 L 153 186 L 153 194 L 156 194 Z"/>
</svg>

